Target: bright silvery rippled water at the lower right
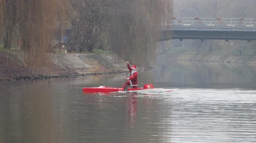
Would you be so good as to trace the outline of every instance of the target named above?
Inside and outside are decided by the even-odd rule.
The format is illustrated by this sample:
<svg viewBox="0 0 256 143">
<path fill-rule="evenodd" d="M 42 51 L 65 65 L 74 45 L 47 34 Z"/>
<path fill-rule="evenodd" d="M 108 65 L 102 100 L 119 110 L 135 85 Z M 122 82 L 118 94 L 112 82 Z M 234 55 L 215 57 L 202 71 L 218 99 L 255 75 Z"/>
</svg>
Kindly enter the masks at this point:
<svg viewBox="0 0 256 143">
<path fill-rule="evenodd" d="M 255 142 L 255 95 L 254 91 L 200 89 L 162 95 L 161 142 Z"/>
</svg>

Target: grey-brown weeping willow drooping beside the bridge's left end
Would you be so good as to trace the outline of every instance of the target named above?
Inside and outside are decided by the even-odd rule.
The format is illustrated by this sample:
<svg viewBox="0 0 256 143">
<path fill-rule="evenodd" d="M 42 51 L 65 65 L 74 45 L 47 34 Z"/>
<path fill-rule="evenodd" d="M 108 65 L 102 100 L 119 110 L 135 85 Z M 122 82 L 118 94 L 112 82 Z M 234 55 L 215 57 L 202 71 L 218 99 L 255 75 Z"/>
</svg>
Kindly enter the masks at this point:
<svg viewBox="0 0 256 143">
<path fill-rule="evenodd" d="M 128 9 L 119 15 L 113 14 L 118 18 L 110 18 L 109 44 L 122 59 L 147 65 L 155 60 L 161 24 L 171 20 L 173 1 L 132 0 L 123 3 L 123 7 Z"/>
</svg>

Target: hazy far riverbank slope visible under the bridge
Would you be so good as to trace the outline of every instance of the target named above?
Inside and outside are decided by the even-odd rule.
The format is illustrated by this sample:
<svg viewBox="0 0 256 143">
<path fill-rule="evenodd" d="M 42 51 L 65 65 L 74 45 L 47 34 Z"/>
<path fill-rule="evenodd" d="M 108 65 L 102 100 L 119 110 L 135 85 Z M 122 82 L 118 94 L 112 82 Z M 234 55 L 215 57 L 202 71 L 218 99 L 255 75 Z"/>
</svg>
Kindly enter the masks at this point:
<svg viewBox="0 0 256 143">
<path fill-rule="evenodd" d="M 164 61 L 166 59 L 174 61 L 256 64 L 256 54 L 255 52 L 253 53 L 253 50 L 242 50 L 240 54 L 239 49 L 204 52 L 189 47 L 173 47 L 159 53 L 158 60 Z"/>
</svg>

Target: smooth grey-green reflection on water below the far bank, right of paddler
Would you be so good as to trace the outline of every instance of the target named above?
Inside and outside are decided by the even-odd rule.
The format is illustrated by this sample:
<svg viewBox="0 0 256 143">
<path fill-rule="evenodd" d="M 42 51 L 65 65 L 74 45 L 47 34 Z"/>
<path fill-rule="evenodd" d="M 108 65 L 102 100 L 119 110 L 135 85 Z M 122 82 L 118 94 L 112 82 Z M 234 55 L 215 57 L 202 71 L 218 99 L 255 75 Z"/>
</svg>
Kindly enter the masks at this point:
<svg viewBox="0 0 256 143">
<path fill-rule="evenodd" d="M 163 87 L 256 88 L 256 68 L 244 64 L 165 61 L 154 73 Z"/>
</svg>

